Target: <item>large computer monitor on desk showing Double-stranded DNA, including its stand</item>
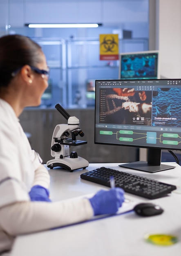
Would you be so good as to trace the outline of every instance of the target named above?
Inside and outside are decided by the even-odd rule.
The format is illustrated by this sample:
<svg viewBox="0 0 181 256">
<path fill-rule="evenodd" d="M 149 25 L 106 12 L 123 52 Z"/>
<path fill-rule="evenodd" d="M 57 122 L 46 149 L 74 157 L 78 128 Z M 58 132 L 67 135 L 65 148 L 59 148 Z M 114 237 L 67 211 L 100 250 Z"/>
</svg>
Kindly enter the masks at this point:
<svg viewBox="0 0 181 256">
<path fill-rule="evenodd" d="M 148 149 L 147 162 L 122 167 L 174 168 L 161 164 L 161 150 L 181 150 L 180 106 L 181 79 L 96 80 L 94 142 Z"/>
</svg>

